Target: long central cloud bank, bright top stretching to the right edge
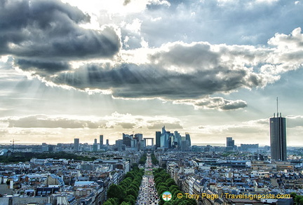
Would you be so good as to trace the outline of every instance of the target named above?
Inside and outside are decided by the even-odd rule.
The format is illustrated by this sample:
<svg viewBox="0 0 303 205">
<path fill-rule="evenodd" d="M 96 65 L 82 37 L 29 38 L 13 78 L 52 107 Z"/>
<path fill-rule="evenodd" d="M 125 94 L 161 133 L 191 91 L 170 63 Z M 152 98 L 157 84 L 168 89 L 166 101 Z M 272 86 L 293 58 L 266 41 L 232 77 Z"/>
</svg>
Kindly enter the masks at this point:
<svg viewBox="0 0 303 205">
<path fill-rule="evenodd" d="M 294 45 L 288 50 L 281 46 L 286 40 L 276 34 L 269 41 L 275 48 L 252 45 L 212 45 L 206 42 L 167 43 L 161 48 L 144 48 L 128 53 L 144 52 L 141 63 L 84 62 L 77 69 L 69 69 L 62 62 L 41 64 L 19 60 L 23 69 L 36 67 L 36 75 L 55 85 L 68 85 L 79 90 L 110 90 L 113 97 L 125 99 L 161 98 L 189 103 L 195 108 L 234 110 L 245 108 L 246 102 L 210 98 L 213 94 L 229 94 L 240 89 L 265 87 L 280 79 L 285 71 L 301 67 L 302 34 L 295 29 L 288 38 Z M 282 37 L 281 37 L 282 36 Z M 293 56 L 293 55 L 292 55 Z M 123 52 L 121 53 L 123 58 Z M 51 75 L 48 68 L 68 70 Z"/>
</svg>

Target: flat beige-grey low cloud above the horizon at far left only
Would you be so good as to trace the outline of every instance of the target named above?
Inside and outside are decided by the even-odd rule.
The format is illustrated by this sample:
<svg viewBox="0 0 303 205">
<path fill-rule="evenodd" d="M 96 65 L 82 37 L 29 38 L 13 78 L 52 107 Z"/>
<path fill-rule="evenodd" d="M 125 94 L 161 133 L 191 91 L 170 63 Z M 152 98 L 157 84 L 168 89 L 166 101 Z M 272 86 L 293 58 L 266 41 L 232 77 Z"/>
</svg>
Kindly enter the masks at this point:
<svg viewBox="0 0 303 205">
<path fill-rule="evenodd" d="M 30 115 L 22 118 L 6 118 L 2 122 L 8 122 L 8 127 L 45 127 L 45 128 L 105 128 L 107 121 L 93 122 L 90 120 L 74 120 L 68 118 L 49 118 L 47 115 Z"/>
</svg>

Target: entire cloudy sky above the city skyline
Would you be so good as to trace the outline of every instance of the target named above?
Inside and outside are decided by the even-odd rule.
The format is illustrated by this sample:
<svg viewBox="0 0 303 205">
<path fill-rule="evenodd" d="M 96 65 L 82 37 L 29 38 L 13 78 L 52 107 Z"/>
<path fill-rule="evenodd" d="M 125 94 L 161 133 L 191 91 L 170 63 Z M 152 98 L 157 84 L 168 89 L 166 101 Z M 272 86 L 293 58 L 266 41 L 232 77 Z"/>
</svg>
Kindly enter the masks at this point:
<svg viewBox="0 0 303 205">
<path fill-rule="evenodd" d="M 303 146 L 303 1 L 0 1 L 0 143 L 188 132 Z"/>
</svg>

